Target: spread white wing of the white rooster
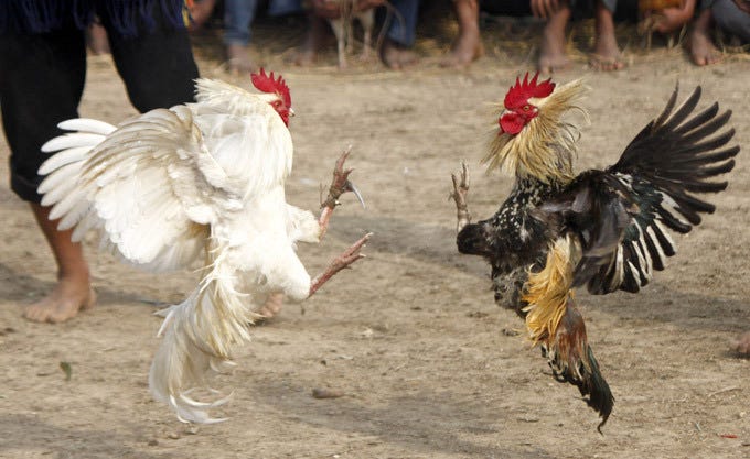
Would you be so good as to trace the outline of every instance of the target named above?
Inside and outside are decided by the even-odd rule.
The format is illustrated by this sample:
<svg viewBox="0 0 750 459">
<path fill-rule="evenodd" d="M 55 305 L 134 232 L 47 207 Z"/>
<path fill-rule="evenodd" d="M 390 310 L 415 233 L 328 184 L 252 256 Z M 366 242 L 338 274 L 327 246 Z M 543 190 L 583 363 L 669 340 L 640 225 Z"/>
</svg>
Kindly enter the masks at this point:
<svg viewBox="0 0 750 459">
<path fill-rule="evenodd" d="M 52 139 L 39 192 L 58 228 L 78 241 L 99 229 L 103 244 L 152 271 L 189 265 L 219 214 L 243 207 L 242 183 L 206 150 L 190 108 L 157 109 L 115 128 L 68 120 L 77 132 Z"/>
</svg>

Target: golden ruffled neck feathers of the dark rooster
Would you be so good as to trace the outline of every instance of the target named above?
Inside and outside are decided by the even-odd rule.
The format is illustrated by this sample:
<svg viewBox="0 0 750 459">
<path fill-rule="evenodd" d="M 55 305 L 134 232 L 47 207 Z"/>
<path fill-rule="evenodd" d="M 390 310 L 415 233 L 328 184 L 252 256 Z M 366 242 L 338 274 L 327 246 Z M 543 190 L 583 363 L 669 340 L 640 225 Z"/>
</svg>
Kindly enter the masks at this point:
<svg viewBox="0 0 750 459">
<path fill-rule="evenodd" d="M 586 92 L 582 80 L 558 86 L 551 95 L 537 99 L 539 113 L 516 135 L 495 135 L 482 160 L 488 172 L 502 168 L 517 177 L 534 177 L 543 183 L 568 183 L 574 178 L 572 160 L 577 154 L 579 129 L 562 121 L 570 110 L 588 113 L 578 102 Z M 501 110 L 502 111 L 502 110 Z M 500 112 L 497 113 L 500 116 Z"/>
</svg>

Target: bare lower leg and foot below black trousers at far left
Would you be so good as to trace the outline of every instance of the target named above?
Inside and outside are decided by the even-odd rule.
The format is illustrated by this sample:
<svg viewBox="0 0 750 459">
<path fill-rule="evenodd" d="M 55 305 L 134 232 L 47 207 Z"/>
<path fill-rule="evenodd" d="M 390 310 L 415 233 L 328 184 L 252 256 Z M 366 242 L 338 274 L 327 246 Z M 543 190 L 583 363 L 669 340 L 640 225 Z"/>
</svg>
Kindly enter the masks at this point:
<svg viewBox="0 0 750 459">
<path fill-rule="evenodd" d="M 57 231 L 57 222 L 49 219 L 49 207 L 32 204 L 31 208 L 50 243 L 58 272 L 54 289 L 42 300 L 26 306 L 23 316 L 34 321 L 65 321 L 96 303 L 88 265 L 81 244 L 71 241 L 72 230 Z"/>
</svg>

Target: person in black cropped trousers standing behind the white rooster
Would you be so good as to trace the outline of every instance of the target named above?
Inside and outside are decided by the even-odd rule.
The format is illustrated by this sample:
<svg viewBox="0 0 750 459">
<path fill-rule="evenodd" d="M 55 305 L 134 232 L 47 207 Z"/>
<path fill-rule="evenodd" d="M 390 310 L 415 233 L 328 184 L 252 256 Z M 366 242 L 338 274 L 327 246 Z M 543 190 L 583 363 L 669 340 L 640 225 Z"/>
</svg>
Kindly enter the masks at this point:
<svg viewBox="0 0 750 459">
<path fill-rule="evenodd" d="M 36 187 L 40 151 L 78 118 L 86 77 L 85 29 L 97 14 L 131 103 L 140 112 L 193 100 L 197 67 L 183 23 L 183 0 L 4 0 L 0 4 L 0 109 L 10 145 L 11 188 L 28 201 L 57 262 L 57 284 L 25 307 L 34 321 L 60 323 L 94 306 L 88 264 L 71 230 L 49 220 Z"/>
</svg>

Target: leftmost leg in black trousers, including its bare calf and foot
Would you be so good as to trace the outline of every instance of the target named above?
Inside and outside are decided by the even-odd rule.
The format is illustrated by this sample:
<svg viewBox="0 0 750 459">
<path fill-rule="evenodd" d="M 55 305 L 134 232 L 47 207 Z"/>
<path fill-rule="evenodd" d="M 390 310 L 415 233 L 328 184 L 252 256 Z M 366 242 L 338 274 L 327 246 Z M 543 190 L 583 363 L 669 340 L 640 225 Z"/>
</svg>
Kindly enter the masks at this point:
<svg viewBox="0 0 750 459">
<path fill-rule="evenodd" d="M 57 263 L 57 284 L 40 302 L 25 307 L 35 321 L 58 323 L 92 307 L 96 295 L 81 244 L 69 231 L 57 231 L 50 208 L 39 203 L 39 166 L 44 142 L 60 135 L 57 123 L 77 118 L 86 74 L 83 31 L 0 37 L 0 109 L 11 149 L 11 188 L 31 204 Z"/>
</svg>

